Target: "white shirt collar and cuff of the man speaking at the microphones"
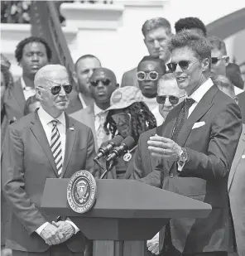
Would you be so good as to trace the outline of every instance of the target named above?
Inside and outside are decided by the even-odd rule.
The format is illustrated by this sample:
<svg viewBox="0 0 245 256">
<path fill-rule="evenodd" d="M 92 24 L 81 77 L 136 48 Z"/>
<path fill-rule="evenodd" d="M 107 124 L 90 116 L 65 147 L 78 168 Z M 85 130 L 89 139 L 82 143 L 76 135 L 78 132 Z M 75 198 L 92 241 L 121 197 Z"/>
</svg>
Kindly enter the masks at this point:
<svg viewBox="0 0 245 256">
<path fill-rule="evenodd" d="M 188 118 L 190 117 L 190 114 L 193 112 L 197 104 L 199 104 L 199 101 L 204 97 L 204 94 L 207 93 L 207 91 L 214 85 L 213 81 L 209 78 L 204 82 L 203 85 L 200 85 L 198 89 L 195 90 L 193 94 L 191 94 L 189 97 L 187 94 L 185 94 L 185 98 L 194 99 L 195 103 L 191 105 L 189 112 L 188 112 Z M 180 162 L 177 162 L 178 164 L 178 171 L 182 171 L 183 167 L 185 166 L 185 163 L 183 165 L 180 164 Z"/>
</svg>

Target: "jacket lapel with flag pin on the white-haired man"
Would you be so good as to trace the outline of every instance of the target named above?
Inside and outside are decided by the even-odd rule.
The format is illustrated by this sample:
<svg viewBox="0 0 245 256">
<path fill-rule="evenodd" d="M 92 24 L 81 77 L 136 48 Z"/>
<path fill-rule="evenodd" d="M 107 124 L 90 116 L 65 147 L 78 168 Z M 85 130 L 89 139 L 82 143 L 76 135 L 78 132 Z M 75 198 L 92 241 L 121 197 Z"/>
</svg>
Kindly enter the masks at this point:
<svg viewBox="0 0 245 256">
<path fill-rule="evenodd" d="M 65 114 L 65 123 L 66 123 L 65 157 L 64 157 L 62 172 L 60 175 L 61 178 L 65 175 L 65 171 L 67 169 L 67 166 L 70 160 L 70 154 L 74 146 L 74 138 L 76 134 L 74 123 L 70 123 L 70 118 L 68 118 L 66 114 Z"/>
</svg>

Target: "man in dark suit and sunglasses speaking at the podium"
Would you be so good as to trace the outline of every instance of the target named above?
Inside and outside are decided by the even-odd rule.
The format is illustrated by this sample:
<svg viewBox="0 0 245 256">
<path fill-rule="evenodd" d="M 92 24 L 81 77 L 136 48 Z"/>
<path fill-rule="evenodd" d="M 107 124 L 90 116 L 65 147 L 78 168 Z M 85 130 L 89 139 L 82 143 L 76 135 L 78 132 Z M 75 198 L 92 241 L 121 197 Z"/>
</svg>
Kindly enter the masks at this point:
<svg viewBox="0 0 245 256">
<path fill-rule="evenodd" d="M 242 132 L 233 99 L 210 80 L 211 49 L 204 37 L 182 31 L 171 38 L 171 63 L 186 99 L 167 115 L 148 144 L 160 162 L 141 181 L 212 205 L 206 219 L 171 220 L 161 230 L 164 255 L 227 255 L 228 172 Z"/>
</svg>

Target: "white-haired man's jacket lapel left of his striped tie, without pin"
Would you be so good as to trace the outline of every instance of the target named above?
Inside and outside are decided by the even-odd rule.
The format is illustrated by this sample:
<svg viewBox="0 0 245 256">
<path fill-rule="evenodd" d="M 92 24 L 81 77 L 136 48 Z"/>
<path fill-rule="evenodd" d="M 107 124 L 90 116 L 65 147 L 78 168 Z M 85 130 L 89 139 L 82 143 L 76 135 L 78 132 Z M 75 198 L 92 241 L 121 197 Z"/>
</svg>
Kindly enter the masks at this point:
<svg viewBox="0 0 245 256">
<path fill-rule="evenodd" d="M 34 136 L 36 137 L 37 141 L 40 143 L 43 152 L 45 152 L 46 157 L 49 159 L 51 167 L 53 167 L 53 170 L 55 171 L 55 175 L 58 177 L 55 160 L 54 160 L 53 154 L 51 152 L 49 142 L 46 138 L 46 133 L 45 133 L 44 129 L 42 128 L 41 121 L 40 121 L 37 113 L 35 113 L 35 118 L 33 119 L 33 121 L 31 121 L 31 123 L 33 124 L 31 126 L 31 131 L 34 134 Z"/>
</svg>

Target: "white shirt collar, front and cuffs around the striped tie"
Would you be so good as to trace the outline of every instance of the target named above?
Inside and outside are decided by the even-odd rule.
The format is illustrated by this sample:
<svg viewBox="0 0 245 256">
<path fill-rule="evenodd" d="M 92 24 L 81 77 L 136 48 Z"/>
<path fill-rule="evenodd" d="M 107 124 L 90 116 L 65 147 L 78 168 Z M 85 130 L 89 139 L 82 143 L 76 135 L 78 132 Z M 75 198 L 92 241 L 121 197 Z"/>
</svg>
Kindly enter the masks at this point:
<svg viewBox="0 0 245 256">
<path fill-rule="evenodd" d="M 65 134 L 65 113 L 62 112 L 62 114 L 60 114 L 60 117 L 58 118 L 53 118 L 50 116 L 50 114 L 46 113 L 46 111 L 40 107 L 40 109 L 37 110 L 37 114 L 40 118 L 41 121 L 41 125 L 44 129 L 44 132 L 46 133 L 46 138 L 50 144 L 51 142 L 51 134 L 52 134 L 52 128 L 53 128 L 53 124 L 51 123 L 52 120 L 58 120 L 59 122 L 57 123 L 57 128 L 58 131 L 60 133 L 60 142 L 61 142 L 61 150 L 62 150 L 62 159 L 64 161 L 64 157 L 65 157 L 65 139 L 66 139 L 66 134 Z M 74 227 L 74 234 L 76 234 L 79 231 L 79 228 L 74 225 L 74 223 L 72 221 L 65 220 L 68 223 L 70 223 L 70 225 L 72 225 Z M 48 225 L 49 222 L 44 223 L 43 225 L 41 225 L 38 229 L 36 229 L 36 233 L 37 234 L 41 234 L 41 231 L 43 229 L 45 229 L 46 225 Z"/>
</svg>

